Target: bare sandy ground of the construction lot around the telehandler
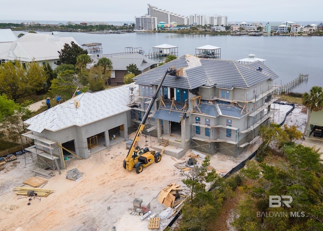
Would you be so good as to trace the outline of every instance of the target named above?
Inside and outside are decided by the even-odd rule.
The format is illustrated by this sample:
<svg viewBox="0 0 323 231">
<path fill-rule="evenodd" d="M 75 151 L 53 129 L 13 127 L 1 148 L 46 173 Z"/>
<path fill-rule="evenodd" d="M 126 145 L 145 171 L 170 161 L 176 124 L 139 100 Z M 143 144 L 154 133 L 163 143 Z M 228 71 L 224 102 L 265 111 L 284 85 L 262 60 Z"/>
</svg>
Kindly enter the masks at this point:
<svg viewBox="0 0 323 231">
<path fill-rule="evenodd" d="M 303 125 L 304 115 L 296 111 L 296 124 Z M 292 123 L 295 124 L 295 120 Z M 245 160 L 259 144 L 258 141 L 254 146 L 249 146 L 238 158 L 213 155 L 211 166 L 225 174 Z M 158 216 L 166 208 L 157 201 L 161 189 L 172 182 L 182 184 L 182 188 L 185 188 L 181 181 L 183 176 L 174 165 L 187 162 L 191 150 L 181 159 L 163 155 L 159 163 L 144 168 L 140 174 L 123 168 L 127 153 L 126 143 L 121 142 L 92 154 L 87 160 L 73 158 L 67 170 L 77 168 L 84 172 L 82 179 L 66 179 L 67 170 L 62 170 L 62 174 L 56 171 L 56 175 L 47 179 L 47 184 L 42 187 L 55 190 L 55 193 L 41 197 L 40 202 L 34 199 L 31 205 L 27 205 L 28 198 L 17 196 L 12 190 L 15 187 L 29 187 L 22 182 L 34 176 L 32 170 L 37 167 L 37 158 L 27 154 L 25 164 L 24 156 L 17 156 L 17 160 L 6 163 L 5 169 L 0 171 L 0 230 L 109 231 L 113 226 L 116 231 L 150 230 L 148 219 L 142 221 L 139 215 L 130 214 L 133 200 L 141 198 L 143 202 L 150 202 L 152 213 Z M 171 219 L 160 220 L 159 230 L 163 230 Z"/>
</svg>

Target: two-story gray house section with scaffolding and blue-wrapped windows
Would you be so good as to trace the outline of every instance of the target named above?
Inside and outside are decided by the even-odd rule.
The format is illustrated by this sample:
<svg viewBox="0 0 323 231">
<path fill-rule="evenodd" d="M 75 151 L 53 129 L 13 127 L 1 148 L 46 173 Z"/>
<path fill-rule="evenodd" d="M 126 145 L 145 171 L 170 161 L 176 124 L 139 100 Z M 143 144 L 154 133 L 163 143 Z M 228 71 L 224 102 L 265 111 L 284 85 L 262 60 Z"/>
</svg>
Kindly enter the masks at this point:
<svg viewBox="0 0 323 231">
<path fill-rule="evenodd" d="M 178 147 L 174 156 L 184 155 L 189 148 L 238 156 L 257 137 L 260 124 L 270 120 L 276 89 L 273 80 L 278 78 L 270 68 L 260 61 L 242 64 L 191 55 L 135 77 L 141 110 L 161 77 L 173 67 L 182 69 L 182 74 L 166 76 L 150 115 L 155 126 L 149 130 L 154 128 L 150 132 L 159 141 L 166 139 Z"/>
</svg>

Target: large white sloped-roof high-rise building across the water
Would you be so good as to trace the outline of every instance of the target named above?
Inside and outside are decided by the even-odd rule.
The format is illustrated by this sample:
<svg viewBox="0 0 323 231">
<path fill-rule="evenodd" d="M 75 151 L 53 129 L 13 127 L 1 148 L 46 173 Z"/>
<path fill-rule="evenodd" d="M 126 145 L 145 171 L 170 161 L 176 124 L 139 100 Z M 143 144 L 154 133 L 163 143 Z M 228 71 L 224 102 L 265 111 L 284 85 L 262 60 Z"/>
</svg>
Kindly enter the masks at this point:
<svg viewBox="0 0 323 231">
<path fill-rule="evenodd" d="M 160 22 L 165 22 L 166 24 L 171 24 L 176 22 L 177 25 L 188 25 L 188 17 L 179 15 L 173 12 L 159 9 L 148 4 L 148 15 L 155 17 L 157 19 L 157 24 Z"/>
</svg>

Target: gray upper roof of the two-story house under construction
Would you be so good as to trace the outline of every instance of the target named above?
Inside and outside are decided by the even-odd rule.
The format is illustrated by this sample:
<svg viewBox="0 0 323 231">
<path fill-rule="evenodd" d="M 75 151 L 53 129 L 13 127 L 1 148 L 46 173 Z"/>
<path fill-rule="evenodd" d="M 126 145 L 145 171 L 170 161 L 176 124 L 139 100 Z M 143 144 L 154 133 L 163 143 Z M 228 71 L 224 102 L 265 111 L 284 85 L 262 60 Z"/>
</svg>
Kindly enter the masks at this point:
<svg viewBox="0 0 323 231">
<path fill-rule="evenodd" d="M 262 66 L 262 71 L 256 68 Z M 157 85 L 168 68 L 184 68 L 180 77 L 167 76 L 163 86 L 194 89 L 205 85 L 217 84 L 220 88 L 251 87 L 278 76 L 263 63 L 256 61 L 247 65 L 234 60 L 199 59 L 185 55 L 156 67 L 146 73 L 135 77 L 137 84 Z"/>
</svg>

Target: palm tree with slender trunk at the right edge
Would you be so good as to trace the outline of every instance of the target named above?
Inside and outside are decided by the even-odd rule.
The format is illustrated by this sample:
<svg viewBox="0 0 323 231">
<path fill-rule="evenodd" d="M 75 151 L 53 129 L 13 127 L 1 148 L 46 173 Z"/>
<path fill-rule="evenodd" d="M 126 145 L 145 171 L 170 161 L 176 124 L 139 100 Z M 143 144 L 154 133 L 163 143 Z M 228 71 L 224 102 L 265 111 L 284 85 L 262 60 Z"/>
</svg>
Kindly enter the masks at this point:
<svg viewBox="0 0 323 231">
<path fill-rule="evenodd" d="M 304 93 L 303 94 L 303 105 L 307 108 L 309 111 L 308 113 L 308 118 L 305 126 L 305 130 L 303 133 L 303 139 L 306 136 L 306 131 L 309 125 L 309 120 L 311 118 L 312 111 L 317 112 L 319 110 L 323 109 L 323 92 L 322 92 L 322 87 L 321 86 L 313 86 L 309 94 Z"/>
</svg>

